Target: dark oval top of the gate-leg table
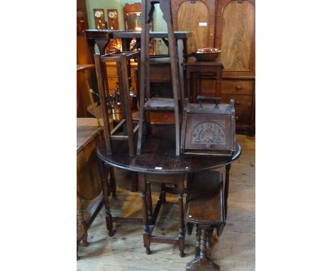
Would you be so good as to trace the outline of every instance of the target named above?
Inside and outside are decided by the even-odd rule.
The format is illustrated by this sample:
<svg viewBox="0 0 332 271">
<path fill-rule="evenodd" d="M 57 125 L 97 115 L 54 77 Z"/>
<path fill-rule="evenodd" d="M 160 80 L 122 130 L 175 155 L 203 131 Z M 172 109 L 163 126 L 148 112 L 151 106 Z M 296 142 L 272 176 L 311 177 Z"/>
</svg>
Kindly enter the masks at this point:
<svg viewBox="0 0 332 271">
<path fill-rule="evenodd" d="M 236 143 L 236 153 L 231 157 L 175 155 L 174 124 L 153 125 L 148 138 L 143 138 L 140 155 L 130 157 L 126 141 L 113 140 L 113 155 L 106 154 L 105 141 L 99 143 L 98 157 L 106 165 L 131 170 L 133 172 L 155 174 L 179 174 L 201 172 L 224 167 L 238 159 L 241 147 Z"/>
</svg>

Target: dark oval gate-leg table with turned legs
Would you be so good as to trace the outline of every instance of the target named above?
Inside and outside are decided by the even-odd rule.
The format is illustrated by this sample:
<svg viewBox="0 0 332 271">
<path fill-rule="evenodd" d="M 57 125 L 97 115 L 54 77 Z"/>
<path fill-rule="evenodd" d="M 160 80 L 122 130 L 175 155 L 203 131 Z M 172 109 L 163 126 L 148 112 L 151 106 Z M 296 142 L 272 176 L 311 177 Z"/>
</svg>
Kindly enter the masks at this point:
<svg viewBox="0 0 332 271">
<path fill-rule="evenodd" d="M 115 141 L 112 146 L 114 152 L 107 155 L 105 141 L 97 148 L 97 155 L 104 167 L 118 167 L 123 170 L 138 172 L 138 183 L 142 193 L 142 219 L 133 219 L 133 222 L 143 221 L 143 241 L 146 253 L 150 254 L 150 243 L 170 243 L 179 245 L 179 255 L 184 255 L 184 210 L 183 199 L 184 181 L 188 175 L 195 172 L 214 170 L 227 166 L 226 182 L 228 179 L 229 165 L 238 159 L 241 148 L 236 143 L 236 152 L 231 156 L 204 156 L 200 155 L 175 155 L 174 125 L 160 124 L 151 126 L 151 133 L 145 140 L 144 148 L 140 155 L 129 156 L 127 144 Z M 188 178 L 189 179 L 189 178 Z M 204 180 L 209 182 L 208 179 Z M 152 210 L 150 197 L 150 183 L 161 183 L 161 193 L 155 210 Z M 176 184 L 173 189 L 178 195 L 179 206 L 179 236 L 153 236 L 153 227 L 157 219 L 160 205 L 165 201 L 167 188 L 165 184 Z M 188 184 L 189 185 L 189 184 Z M 112 217 L 110 213 L 107 186 L 104 185 L 104 201 L 106 207 L 107 228 L 111 231 Z M 126 222 L 129 218 L 127 218 Z M 115 221 L 115 220 L 113 220 Z M 125 222 L 125 221 L 123 221 Z"/>
</svg>

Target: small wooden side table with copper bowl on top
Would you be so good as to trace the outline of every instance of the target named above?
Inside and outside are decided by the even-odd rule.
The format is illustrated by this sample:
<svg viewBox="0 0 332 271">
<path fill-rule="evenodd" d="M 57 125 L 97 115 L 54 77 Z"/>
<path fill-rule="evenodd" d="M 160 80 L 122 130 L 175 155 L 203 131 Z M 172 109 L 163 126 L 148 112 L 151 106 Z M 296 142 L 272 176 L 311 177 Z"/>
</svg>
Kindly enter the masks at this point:
<svg viewBox="0 0 332 271">
<path fill-rule="evenodd" d="M 190 103 L 197 103 L 196 97 L 201 95 L 201 79 L 215 80 L 216 84 L 221 82 L 223 64 L 219 60 L 197 61 L 194 57 L 189 57 L 185 63 L 185 68 L 187 98 Z M 214 96 L 220 96 L 217 92 L 217 87 L 215 87 L 214 92 Z"/>
</svg>

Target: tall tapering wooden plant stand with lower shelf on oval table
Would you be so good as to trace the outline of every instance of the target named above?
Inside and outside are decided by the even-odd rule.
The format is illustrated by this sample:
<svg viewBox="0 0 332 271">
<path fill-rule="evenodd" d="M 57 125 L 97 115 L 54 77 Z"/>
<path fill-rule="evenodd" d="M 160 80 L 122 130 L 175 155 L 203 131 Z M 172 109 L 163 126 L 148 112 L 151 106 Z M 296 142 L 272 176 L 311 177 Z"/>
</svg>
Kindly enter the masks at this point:
<svg viewBox="0 0 332 271">
<path fill-rule="evenodd" d="M 153 11 L 155 4 L 160 4 L 160 9 L 163 13 L 162 18 L 167 23 L 168 43 L 170 52 L 170 65 L 172 73 L 172 92 L 173 98 L 156 98 L 150 96 L 150 57 L 149 57 L 149 42 L 150 42 L 150 22 L 153 20 Z M 175 145 L 176 155 L 180 154 L 179 140 L 180 140 L 180 116 L 179 116 L 179 99 L 180 94 L 180 76 L 179 76 L 179 62 L 178 51 L 175 34 L 172 25 L 172 12 L 170 0 L 143 0 L 142 1 L 142 33 L 141 33 L 141 55 L 140 55 L 140 120 L 138 131 L 137 154 L 140 154 L 142 146 L 143 134 L 143 118 L 147 124 L 147 131 L 150 125 L 150 110 L 157 111 L 174 111 L 175 112 Z M 146 99 L 146 101 L 145 101 Z"/>
</svg>

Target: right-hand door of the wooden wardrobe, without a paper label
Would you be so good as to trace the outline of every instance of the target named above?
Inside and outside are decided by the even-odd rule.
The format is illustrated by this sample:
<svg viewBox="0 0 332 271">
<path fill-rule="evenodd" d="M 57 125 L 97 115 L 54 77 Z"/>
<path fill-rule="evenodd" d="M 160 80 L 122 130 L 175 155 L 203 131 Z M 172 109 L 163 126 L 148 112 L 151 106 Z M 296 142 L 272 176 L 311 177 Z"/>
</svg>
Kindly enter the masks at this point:
<svg viewBox="0 0 332 271">
<path fill-rule="evenodd" d="M 254 75 L 255 1 L 219 0 L 217 6 L 216 47 L 224 73 Z"/>
</svg>

